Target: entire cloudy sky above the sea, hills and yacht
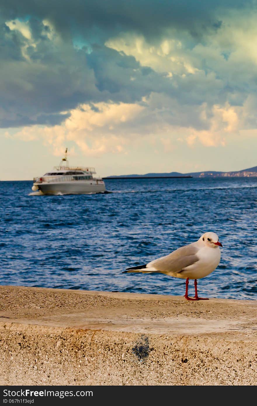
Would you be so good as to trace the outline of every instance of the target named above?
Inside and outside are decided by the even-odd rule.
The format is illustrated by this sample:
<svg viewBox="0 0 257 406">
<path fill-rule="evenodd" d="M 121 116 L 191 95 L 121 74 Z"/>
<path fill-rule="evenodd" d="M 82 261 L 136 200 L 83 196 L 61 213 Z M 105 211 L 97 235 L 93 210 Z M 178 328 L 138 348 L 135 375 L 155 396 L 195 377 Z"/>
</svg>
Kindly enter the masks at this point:
<svg viewBox="0 0 257 406">
<path fill-rule="evenodd" d="M 255 0 L 0 0 L 0 180 L 257 165 Z"/>
</svg>

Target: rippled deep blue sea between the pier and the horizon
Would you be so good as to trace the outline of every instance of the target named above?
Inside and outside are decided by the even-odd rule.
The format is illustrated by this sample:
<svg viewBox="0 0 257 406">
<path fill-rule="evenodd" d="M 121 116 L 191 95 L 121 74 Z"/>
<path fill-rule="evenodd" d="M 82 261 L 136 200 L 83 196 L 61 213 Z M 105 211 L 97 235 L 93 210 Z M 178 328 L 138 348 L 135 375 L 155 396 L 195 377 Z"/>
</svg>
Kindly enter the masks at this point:
<svg viewBox="0 0 257 406">
<path fill-rule="evenodd" d="M 31 187 L 0 182 L 1 285 L 184 295 L 183 279 L 122 271 L 214 231 L 221 261 L 199 295 L 257 299 L 257 178 L 106 180 L 110 193 L 66 196 Z"/>
</svg>

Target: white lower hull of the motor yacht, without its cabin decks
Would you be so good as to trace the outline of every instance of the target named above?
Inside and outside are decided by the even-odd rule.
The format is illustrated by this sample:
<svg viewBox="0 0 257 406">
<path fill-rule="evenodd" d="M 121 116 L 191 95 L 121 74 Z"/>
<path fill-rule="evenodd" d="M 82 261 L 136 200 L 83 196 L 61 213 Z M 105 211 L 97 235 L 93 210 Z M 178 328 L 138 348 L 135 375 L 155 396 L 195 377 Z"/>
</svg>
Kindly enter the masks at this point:
<svg viewBox="0 0 257 406">
<path fill-rule="evenodd" d="M 92 184 L 79 183 L 79 181 L 76 181 L 76 184 L 75 182 L 63 182 L 58 184 L 43 182 L 40 184 L 35 183 L 34 185 L 37 186 L 43 194 L 90 194 L 106 191 L 103 181 Z"/>
</svg>

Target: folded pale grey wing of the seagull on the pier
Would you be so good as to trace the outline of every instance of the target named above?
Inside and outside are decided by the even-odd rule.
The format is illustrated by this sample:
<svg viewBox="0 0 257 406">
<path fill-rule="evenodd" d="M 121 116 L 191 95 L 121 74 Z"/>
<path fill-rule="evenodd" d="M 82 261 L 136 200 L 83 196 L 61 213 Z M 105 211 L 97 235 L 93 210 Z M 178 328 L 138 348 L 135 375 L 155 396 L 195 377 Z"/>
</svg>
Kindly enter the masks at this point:
<svg viewBox="0 0 257 406">
<path fill-rule="evenodd" d="M 194 243 L 178 248 L 165 257 L 155 259 L 147 264 L 145 271 L 162 272 L 163 274 L 177 274 L 187 266 L 199 261 L 197 248 Z M 152 270 L 152 271 L 151 271 Z"/>
</svg>

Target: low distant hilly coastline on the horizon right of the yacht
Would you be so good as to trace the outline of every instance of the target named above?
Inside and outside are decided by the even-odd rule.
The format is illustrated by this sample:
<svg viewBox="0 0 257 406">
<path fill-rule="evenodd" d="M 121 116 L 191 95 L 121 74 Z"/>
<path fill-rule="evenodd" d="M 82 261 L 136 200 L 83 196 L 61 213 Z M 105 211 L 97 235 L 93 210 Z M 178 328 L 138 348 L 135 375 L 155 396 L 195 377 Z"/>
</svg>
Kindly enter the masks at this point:
<svg viewBox="0 0 257 406">
<path fill-rule="evenodd" d="M 108 178 L 126 178 L 126 177 L 167 177 L 167 176 L 192 176 L 192 177 L 257 177 L 257 166 L 253 168 L 242 169 L 242 171 L 221 172 L 221 171 L 205 171 L 205 172 L 169 172 L 169 173 L 145 173 L 145 175 L 112 175 Z"/>
</svg>

